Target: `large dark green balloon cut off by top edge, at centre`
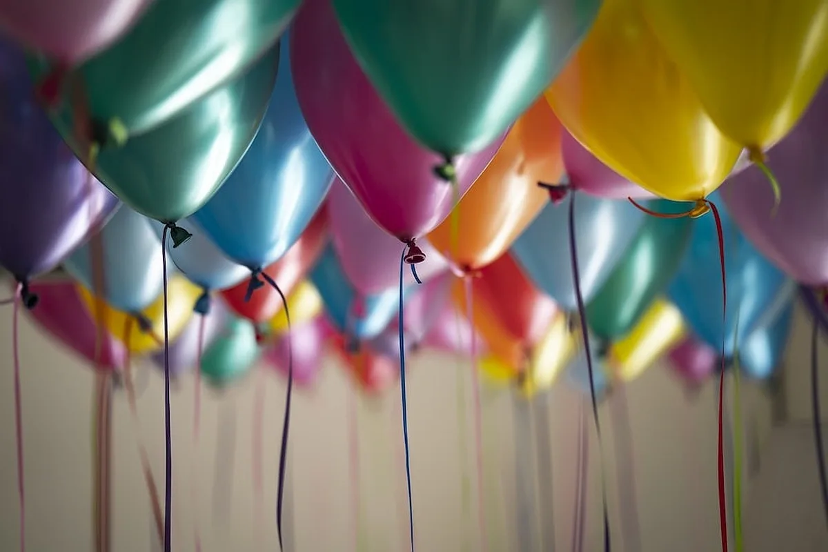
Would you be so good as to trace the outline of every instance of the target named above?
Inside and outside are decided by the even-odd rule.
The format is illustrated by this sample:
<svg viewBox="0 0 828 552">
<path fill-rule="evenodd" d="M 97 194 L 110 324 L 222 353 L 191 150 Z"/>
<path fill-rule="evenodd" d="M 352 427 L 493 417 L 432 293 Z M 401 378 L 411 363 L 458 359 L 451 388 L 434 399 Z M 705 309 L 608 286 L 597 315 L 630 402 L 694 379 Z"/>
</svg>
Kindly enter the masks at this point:
<svg viewBox="0 0 828 552">
<path fill-rule="evenodd" d="M 542 94 L 601 2 L 333 4 L 351 50 L 402 125 L 431 150 L 454 156 L 494 142 Z"/>
</svg>

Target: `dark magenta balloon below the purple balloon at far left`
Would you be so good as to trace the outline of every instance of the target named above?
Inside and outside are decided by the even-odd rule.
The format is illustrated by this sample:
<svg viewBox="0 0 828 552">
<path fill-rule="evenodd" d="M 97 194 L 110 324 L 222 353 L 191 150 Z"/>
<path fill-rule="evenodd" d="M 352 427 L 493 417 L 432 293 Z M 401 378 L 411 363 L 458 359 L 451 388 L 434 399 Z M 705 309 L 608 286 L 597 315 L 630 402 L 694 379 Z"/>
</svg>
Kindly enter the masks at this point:
<svg viewBox="0 0 828 552">
<path fill-rule="evenodd" d="M 109 332 L 99 333 L 94 319 L 75 290 L 75 282 L 37 282 L 31 284 L 31 291 L 40 298 L 37 308 L 29 311 L 37 325 L 46 329 L 66 348 L 92 362 L 94 367 L 102 370 L 123 367 L 127 350 Z"/>
</svg>

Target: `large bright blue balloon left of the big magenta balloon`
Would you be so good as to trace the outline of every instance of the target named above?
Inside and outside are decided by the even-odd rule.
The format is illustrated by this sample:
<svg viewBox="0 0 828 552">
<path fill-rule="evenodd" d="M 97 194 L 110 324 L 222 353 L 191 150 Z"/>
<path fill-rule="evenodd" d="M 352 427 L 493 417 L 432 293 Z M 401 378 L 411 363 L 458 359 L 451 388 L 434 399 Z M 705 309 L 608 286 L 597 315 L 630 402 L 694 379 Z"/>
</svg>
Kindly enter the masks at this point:
<svg viewBox="0 0 828 552">
<path fill-rule="evenodd" d="M 279 63 L 290 65 L 286 40 Z M 333 170 L 299 109 L 291 71 L 280 70 L 250 149 L 193 218 L 233 261 L 259 269 L 276 262 L 296 242 L 331 180 Z"/>
</svg>

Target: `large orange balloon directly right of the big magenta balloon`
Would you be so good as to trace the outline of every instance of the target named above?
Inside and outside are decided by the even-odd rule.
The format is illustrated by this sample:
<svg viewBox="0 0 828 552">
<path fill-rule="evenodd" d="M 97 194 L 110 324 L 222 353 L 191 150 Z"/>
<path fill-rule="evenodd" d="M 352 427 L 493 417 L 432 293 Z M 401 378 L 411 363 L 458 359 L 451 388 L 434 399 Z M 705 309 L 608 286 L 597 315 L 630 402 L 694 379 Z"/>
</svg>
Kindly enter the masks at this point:
<svg viewBox="0 0 828 552">
<path fill-rule="evenodd" d="M 500 151 L 454 213 L 428 234 L 429 241 L 463 271 L 488 265 L 549 201 L 537 181 L 557 182 L 562 169 L 561 125 L 541 98 L 517 119 Z"/>
</svg>

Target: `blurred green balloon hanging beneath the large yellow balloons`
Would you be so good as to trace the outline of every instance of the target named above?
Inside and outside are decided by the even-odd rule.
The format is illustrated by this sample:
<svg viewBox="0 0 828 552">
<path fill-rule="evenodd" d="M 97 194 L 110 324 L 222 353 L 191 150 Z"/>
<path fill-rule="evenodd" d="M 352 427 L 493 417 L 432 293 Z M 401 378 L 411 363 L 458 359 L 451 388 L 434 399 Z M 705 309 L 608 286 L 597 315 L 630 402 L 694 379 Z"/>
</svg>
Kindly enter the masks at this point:
<svg viewBox="0 0 828 552">
<path fill-rule="evenodd" d="M 686 211 L 686 204 L 659 200 L 658 213 Z M 690 243 L 693 219 L 647 217 L 621 262 L 586 305 L 593 334 L 611 341 L 629 333 L 672 281 Z"/>
</svg>

